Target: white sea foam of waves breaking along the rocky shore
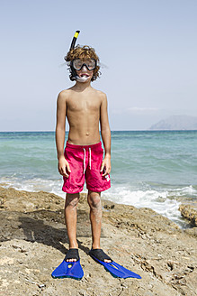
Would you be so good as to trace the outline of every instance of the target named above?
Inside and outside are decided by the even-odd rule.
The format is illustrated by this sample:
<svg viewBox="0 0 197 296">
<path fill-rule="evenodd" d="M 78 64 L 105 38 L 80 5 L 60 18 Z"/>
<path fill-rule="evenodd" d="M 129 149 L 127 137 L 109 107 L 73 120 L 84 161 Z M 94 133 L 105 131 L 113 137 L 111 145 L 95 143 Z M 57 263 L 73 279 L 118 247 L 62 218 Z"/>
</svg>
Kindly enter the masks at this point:
<svg viewBox="0 0 197 296">
<path fill-rule="evenodd" d="M 15 190 L 26 191 L 47 191 L 54 193 L 65 199 L 65 192 L 61 190 L 62 180 L 42 180 L 34 178 L 31 180 L 19 180 L 16 177 L 1 178 L 0 185 L 5 188 L 13 187 Z M 146 186 L 145 186 L 146 187 Z M 87 192 L 86 188 L 83 192 Z M 132 205 L 137 208 L 152 208 L 157 213 L 168 217 L 174 221 L 181 220 L 181 214 L 178 210 L 181 201 L 180 197 L 187 197 L 188 194 L 197 196 L 197 190 L 193 186 L 162 190 L 138 190 L 130 186 L 112 186 L 110 190 L 102 193 L 103 199 L 109 199 L 113 202 Z"/>
</svg>

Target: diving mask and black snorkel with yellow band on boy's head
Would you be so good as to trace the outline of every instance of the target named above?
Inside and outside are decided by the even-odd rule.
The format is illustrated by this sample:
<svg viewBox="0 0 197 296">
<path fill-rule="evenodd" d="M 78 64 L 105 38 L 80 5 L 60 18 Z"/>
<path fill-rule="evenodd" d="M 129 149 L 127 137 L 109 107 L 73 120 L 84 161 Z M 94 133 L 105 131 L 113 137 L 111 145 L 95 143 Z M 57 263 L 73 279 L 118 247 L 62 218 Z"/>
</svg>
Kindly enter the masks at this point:
<svg viewBox="0 0 197 296">
<path fill-rule="evenodd" d="M 74 50 L 75 49 L 75 45 L 76 45 L 76 39 L 78 37 L 80 31 L 76 31 L 73 40 L 71 42 L 70 45 L 70 50 Z M 74 79 L 76 79 L 76 81 L 78 82 L 85 82 L 89 77 L 87 76 L 83 76 L 83 77 L 79 77 L 76 74 L 76 70 L 79 71 L 81 70 L 84 66 L 86 67 L 86 69 L 88 69 L 89 71 L 94 70 L 97 66 L 97 61 L 94 59 L 87 59 L 87 60 L 80 60 L 80 59 L 74 59 L 70 61 L 70 69 L 71 69 L 71 73 L 72 76 L 74 77 Z"/>
</svg>

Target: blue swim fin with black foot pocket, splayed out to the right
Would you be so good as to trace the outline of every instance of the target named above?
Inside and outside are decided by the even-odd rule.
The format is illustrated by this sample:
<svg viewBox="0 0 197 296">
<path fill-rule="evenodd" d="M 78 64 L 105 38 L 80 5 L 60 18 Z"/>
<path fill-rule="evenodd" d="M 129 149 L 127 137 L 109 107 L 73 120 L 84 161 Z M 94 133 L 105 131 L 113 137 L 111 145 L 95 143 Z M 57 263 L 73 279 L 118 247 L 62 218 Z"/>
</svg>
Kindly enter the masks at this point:
<svg viewBox="0 0 197 296">
<path fill-rule="evenodd" d="M 141 276 L 139 274 L 131 272 L 129 269 L 121 266 L 120 264 L 115 263 L 114 261 L 112 261 L 111 263 L 106 263 L 96 258 L 91 251 L 89 252 L 89 254 L 97 263 L 102 264 L 106 269 L 106 271 L 111 273 L 112 276 L 114 277 L 119 277 L 123 279 L 129 278 L 129 277 L 141 279 Z"/>
</svg>

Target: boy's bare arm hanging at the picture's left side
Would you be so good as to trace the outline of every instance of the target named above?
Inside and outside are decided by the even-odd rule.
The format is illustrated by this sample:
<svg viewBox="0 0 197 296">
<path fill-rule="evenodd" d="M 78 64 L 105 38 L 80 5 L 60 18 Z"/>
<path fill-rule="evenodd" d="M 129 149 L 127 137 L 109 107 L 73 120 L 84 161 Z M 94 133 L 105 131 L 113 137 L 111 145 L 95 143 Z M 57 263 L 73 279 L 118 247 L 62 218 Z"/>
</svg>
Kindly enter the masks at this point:
<svg viewBox="0 0 197 296">
<path fill-rule="evenodd" d="M 66 114 L 67 114 L 67 98 L 66 94 L 60 92 L 57 100 L 57 125 L 56 125 L 56 147 L 58 153 L 58 172 L 68 177 L 70 167 L 64 157 L 64 143 L 65 143 L 65 128 L 66 128 Z"/>
</svg>

